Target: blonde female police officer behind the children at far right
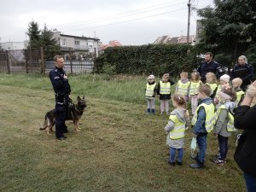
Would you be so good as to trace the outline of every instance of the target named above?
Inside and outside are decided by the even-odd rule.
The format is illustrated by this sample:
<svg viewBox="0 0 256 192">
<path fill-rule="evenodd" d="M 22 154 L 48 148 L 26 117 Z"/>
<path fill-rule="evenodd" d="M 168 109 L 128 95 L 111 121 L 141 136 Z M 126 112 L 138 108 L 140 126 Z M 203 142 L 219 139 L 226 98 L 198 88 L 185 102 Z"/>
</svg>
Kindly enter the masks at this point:
<svg viewBox="0 0 256 192">
<path fill-rule="evenodd" d="M 238 57 L 238 63 L 231 71 L 231 80 L 236 78 L 241 78 L 241 90 L 245 91 L 247 89 L 247 85 L 253 82 L 253 67 L 252 65 L 247 63 L 247 57 L 245 55 L 241 55 Z"/>
</svg>

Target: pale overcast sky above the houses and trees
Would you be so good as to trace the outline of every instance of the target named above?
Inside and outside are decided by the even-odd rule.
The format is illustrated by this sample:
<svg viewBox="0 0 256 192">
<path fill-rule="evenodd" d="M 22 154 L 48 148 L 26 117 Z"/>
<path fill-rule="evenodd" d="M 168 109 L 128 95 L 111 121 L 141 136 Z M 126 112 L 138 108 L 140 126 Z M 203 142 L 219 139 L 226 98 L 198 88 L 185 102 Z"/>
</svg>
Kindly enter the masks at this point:
<svg viewBox="0 0 256 192">
<path fill-rule="evenodd" d="M 67 35 L 100 38 L 103 44 L 151 44 L 160 36 L 187 34 L 189 0 L 7 0 L 0 6 L 0 42 L 24 41 L 28 23 L 38 22 Z M 191 0 L 192 7 L 212 0 Z M 195 11 L 190 35 L 195 35 Z"/>
</svg>

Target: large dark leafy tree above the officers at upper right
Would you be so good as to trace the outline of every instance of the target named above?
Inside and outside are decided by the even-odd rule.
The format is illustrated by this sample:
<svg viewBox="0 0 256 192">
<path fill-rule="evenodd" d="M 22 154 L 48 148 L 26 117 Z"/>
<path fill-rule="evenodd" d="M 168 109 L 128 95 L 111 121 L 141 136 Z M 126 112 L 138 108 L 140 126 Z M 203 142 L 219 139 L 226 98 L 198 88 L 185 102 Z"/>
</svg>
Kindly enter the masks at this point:
<svg viewBox="0 0 256 192">
<path fill-rule="evenodd" d="M 214 0 L 214 8 L 197 9 L 201 17 L 201 50 L 211 50 L 227 67 L 239 55 L 256 66 L 256 1 Z"/>
</svg>

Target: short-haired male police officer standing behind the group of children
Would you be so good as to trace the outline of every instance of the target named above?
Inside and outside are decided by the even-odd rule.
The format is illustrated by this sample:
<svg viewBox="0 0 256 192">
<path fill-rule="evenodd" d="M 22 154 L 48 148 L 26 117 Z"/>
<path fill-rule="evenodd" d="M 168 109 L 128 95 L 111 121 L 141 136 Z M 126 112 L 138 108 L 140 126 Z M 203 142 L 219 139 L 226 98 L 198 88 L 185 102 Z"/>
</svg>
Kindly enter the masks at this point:
<svg viewBox="0 0 256 192">
<path fill-rule="evenodd" d="M 225 73 L 224 68 L 221 67 L 218 62 L 212 61 L 212 56 L 213 55 L 211 52 L 207 52 L 205 54 L 205 61 L 201 61 L 199 67 L 197 68 L 197 72 L 200 73 L 201 81 L 203 83 L 206 83 L 206 74 L 209 72 L 214 73 L 217 78 Z"/>
</svg>

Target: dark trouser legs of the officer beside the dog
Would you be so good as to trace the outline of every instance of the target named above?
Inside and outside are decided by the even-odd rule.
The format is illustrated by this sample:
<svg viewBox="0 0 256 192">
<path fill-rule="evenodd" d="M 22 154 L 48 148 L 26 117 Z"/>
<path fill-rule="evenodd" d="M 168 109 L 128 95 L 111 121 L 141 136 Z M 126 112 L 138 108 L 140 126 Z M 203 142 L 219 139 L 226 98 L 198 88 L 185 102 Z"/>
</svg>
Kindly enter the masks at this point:
<svg viewBox="0 0 256 192">
<path fill-rule="evenodd" d="M 65 119 L 67 115 L 67 106 L 64 104 L 55 104 L 55 136 L 57 138 L 63 137 L 63 132 L 67 131 Z"/>
</svg>

